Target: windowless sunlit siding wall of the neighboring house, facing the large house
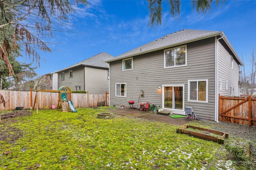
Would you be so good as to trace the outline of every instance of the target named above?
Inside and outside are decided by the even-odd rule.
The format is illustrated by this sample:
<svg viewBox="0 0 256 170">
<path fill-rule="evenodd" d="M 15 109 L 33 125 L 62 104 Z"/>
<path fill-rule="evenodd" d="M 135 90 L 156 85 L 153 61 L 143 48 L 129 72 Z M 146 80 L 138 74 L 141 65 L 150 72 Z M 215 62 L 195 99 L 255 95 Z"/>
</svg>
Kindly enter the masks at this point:
<svg viewBox="0 0 256 170">
<path fill-rule="evenodd" d="M 105 94 L 108 92 L 108 70 L 86 66 L 85 90 L 89 94 Z"/>
</svg>

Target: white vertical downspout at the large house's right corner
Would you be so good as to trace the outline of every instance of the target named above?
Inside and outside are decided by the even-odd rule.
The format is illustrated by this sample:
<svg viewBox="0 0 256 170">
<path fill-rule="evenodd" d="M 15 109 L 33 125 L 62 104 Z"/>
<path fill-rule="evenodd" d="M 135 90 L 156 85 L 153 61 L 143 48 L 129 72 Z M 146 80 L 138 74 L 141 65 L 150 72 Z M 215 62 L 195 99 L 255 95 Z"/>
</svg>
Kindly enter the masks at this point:
<svg viewBox="0 0 256 170">
<path fill-rule="evenodd" d="M 218 98 L 218 42 L 223 38 L 223 35 L 220 34 L 220 38 L 217 39 L 215 36 L 215 121 L 219 122 L 219 98 Z"/>
</svg>

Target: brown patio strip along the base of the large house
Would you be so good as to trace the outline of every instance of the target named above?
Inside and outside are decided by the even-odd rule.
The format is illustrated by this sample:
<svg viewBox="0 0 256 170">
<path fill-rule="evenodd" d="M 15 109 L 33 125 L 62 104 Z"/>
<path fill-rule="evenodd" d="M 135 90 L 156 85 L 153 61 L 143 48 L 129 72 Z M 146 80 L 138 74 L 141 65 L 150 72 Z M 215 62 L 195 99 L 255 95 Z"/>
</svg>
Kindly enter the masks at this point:
<svg viewBox="0 0 256 170">
<path fill-rule="evenodd" d="M 150 121 L 169 123 L 169 124 L 176 125 L 176 126 L 181 126 L 181 125 L 184 125 L 186 123 L 190 123 L 191 121 L 193 121 L 191 119 L 187 119 L 186 117 L 174 119 L 174 118 L 166 116 L 166 115 L 158 115 L 158 114 L 154 114 L 150 111 L 144 112 L 144 111 L 140 111 L 139 109 L 123 108 L 123 109 L 114 109 L 114 110 L 110 110 L 110 111 L 112 113 L 116 113 L 118 115 L 140 117 L 140 118 L 147 119 Z"/>
</svg>

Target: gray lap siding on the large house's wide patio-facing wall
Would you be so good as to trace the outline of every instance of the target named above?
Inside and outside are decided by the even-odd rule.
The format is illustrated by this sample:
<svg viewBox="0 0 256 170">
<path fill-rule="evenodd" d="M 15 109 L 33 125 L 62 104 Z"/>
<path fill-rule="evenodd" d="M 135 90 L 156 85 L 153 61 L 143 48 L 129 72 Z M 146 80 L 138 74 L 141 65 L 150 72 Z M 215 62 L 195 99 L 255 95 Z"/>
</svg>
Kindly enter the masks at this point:
<svg viewBox="0 0 256 170">
<path fill-rule="evenodd" d="M 122 71 L 122 59 L 110 63 L 110 105 L 129 107 L 128 101 L 150 102 L 162 108 L 164 84 L 185 85 L 185 107 L 202 119 L 215 115 L 215 41 L 214 37 L 187 44 L 187 66 L 164 68 L 164 50 L 133 57 L 133 70 Z M 138 77 L 138 80 L 136 80 Z M 208 79 L 208 103 L 188 102 L 188 80 Z M 115 97 L 115 84 L 126 83 L 126 98 Z M 144 97 L 140 97 L 140 90 Z"/>
</svg>

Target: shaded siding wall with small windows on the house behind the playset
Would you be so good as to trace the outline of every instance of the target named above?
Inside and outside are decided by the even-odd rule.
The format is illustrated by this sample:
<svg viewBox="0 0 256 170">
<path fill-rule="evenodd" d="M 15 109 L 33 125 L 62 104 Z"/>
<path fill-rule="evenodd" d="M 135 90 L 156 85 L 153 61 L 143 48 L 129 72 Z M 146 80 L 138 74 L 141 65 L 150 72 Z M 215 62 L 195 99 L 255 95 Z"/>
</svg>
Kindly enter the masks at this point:
<svg viewBox="0 0 256 170">
<path fill-rule="evenodd" d="M 68 71 L 65 72 L 65 79 L 60 80 L 60 72 L 58 72 L 58 88 L 61 86 L 68 86 L 71 90 L 75 90 L 75 86 L 81 86 L 81 90 L 84 90 L 84 66 L 78 66 L 75 68 L 72 68 L 70 70 L 73 70 L 73 77 L 68 77 Z"/>
</svg>

